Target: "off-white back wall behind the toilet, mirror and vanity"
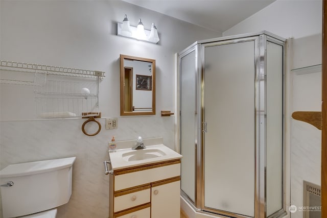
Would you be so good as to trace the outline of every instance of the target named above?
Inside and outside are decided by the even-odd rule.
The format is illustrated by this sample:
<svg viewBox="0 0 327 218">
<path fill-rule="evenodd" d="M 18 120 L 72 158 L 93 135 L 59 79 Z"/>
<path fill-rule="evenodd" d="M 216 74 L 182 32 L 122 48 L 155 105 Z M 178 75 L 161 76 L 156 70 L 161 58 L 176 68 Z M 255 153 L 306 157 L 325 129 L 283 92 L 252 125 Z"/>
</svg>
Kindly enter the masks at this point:
<svg viewBox="0 0 327 218">
<path fill-rule="evenodd" d="M 33 87 L 1 84 L 0 168 L 8 164 L 76 156 L 73 195 L 58 208 L 62 217 L 108 217 L 108 141 L 164 137 L 174 148 L 174 53 L 196 40 L 221 33 L 208 31 L 122 1 L 1 1 L 1 59 L 101 70 L 101 132 L 81 131 L 84 119 L 36 120 Z M 132 26 L 142 17 L 146 29 L 156 23 L 158 44 L 116 36 L 124 14 Z M 156 60 L 156 115 L 121 117 L 119 55 Z M 118 117 L 118 129 L 106 130 L 105 117 Z M 24 193 L 23 193 L 24 194 Z"/>
</svg>

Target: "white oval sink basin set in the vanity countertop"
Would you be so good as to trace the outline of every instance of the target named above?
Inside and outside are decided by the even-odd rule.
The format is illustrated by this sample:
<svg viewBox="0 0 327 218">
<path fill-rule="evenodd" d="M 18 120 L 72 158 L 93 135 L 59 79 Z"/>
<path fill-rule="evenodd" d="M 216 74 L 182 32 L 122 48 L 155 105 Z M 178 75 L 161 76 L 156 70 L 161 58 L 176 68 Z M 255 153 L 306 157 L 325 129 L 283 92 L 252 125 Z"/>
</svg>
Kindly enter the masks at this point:
<svg viewBox="0 0 327 218">
<path fill-rule="evenodd" d="M 167 154 L 159 149 L 139 149 L 139 150 L 133 150 L 131 152 L 123 153 L 122 158 L 125 161 L 136 161 L 136 160 L 146 160 L 156 157 L 162 157 L 165 155 Z"/>
</svg>

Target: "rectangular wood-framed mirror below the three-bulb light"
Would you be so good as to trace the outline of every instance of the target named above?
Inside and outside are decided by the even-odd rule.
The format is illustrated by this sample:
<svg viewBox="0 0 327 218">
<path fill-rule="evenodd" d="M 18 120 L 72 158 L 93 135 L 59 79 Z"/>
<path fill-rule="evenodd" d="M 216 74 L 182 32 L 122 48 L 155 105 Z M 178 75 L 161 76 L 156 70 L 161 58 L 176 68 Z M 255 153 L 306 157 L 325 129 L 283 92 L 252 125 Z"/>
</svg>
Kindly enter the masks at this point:
<svg viewBox="0 0 327 218">
<path fill-rule="evenodd" d="M 121 115 L 155 114 L 155 60 L 120 55 Z"/>
</svg>

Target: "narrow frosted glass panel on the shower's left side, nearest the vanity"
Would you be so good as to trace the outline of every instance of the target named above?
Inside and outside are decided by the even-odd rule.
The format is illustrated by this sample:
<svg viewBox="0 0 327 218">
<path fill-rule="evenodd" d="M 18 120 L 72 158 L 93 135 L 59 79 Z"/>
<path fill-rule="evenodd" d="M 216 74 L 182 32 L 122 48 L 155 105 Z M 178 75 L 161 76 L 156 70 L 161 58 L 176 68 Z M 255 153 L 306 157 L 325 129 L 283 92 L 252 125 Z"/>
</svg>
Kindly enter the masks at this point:
<svg viewBox="0 0 327 218">
<path fill-rule="evenodd" d="M 195 202 L 196 58 L 195 50 L 180 58 L 181 190 Z"/>
</svg>

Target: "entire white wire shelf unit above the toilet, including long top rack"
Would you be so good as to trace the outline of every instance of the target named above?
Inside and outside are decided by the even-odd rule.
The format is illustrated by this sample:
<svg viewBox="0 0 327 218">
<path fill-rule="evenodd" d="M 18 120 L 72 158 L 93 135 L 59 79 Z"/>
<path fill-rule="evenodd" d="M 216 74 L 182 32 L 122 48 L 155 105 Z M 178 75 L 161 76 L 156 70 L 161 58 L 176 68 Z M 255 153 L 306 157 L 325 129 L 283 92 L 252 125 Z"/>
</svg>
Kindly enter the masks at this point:
<svg viewBox="0 0 327 218">
<path fill-rule="evenodd" d="M 34 86 L 38 118 L 100 115 L 99 81 L 105 72 L 3 60 L 0 69 L 1 83 Z"/>
</svg>

